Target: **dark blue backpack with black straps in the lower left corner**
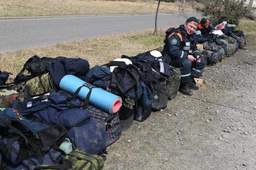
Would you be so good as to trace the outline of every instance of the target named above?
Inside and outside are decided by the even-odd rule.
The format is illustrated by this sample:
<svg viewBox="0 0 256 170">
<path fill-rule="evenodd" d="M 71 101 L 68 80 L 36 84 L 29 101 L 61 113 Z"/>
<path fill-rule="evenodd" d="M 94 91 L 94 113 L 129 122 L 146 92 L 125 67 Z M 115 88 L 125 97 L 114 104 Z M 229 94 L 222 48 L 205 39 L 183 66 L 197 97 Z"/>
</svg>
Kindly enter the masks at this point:
<svg viewBox="0 0 256 170">
<path fill-rule="evenodd" d="M 44 154 L 63 141 L 67 130 L 61 125 L 44 125 L 25 119 L 17 110 L 0 111 L 0 151 L 8 162 L 17 165 L 29 157 L 43 162 Z"/>
</svg>

